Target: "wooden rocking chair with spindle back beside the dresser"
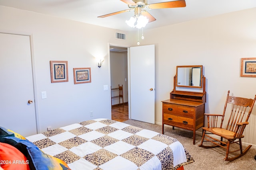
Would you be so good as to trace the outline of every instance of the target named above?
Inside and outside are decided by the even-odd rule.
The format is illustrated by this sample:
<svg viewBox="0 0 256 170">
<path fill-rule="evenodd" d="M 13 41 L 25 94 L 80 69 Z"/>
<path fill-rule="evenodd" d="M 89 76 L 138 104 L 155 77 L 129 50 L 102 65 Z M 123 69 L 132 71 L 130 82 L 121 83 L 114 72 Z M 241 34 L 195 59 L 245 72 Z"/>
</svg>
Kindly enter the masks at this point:
<svg viewBox="0 0 256 170">
<path fill-rule="evenodd" d="M 252 108 L 256 100 L 256 95 L 254 99 L 247 99 L 247 98 L 229 96 L 229 93 L 230 91 L 228 90 L 228 95 L 226 98 L 223 115 L 204 113 L 204 115 L 207 116 L 208 127 L 203 127 L 202 141 L 201 141 L 201 144 L 198 146 L 202 148 L 222 147 L 226 149 L 226 157 L 224 158 L 224 160 L 233 161 L 237 158 L 240 158 L 244 154 L 246 154 L 246 152 L 250 149 L 250 147 L 252 147 L 252 145 L 249 145 L 246 149 L 242 150 L 241 139 L 244 137 L 243 135 L 244 128 L 246 127 L 246 125 L 248 125 L 248 119 L 252 112 Z M 227 104 L 232 105 L 231 114 L 228 119 L 226 128 L 222 128 Z M 220 126 L 217 125 L 218 117 L 222 117 Z M 206 131 L 208 131 L 209 133 L 206 133 Z M 219 136 L 220 140 L 216 139 L 216 137 L 212 137 L 212 135 Z M 223 140 L 223 138 L 226 140 Z M 211 146 L 203 145 L 204 142 L 211 142 L 214 145 L 211 145 Z M 238 144 L 239 149 L 230 151 L 230 144 L 232 143 Z M 240 151 L 240 153 L 231 158 L 228 157 L 228 154 L 232 152 L 237 152 L 237 151 Z"/>
</svg>

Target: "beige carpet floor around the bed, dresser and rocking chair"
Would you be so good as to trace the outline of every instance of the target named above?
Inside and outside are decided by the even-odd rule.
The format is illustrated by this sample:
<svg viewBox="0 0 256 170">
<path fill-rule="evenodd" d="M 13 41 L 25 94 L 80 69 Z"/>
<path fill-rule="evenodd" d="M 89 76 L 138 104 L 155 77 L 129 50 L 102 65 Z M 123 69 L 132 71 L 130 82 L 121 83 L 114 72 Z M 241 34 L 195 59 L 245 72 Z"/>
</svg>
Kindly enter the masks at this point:
<svg viewBox="0 0 256 170">
<path fill-rule="evenodd" d="M 141 127 L 162 133 L 162 126 L 129 119 L 124 121 L 129 125 Z M 184 170 L 256 170 L 256 149 L 250 149 L 244 156 L 232 162 L 224 161 L 226 150 L 223 148 L 204 149 L 198 147 L 201 136 L 196 135 L 196 145 L 193 145 L 193 133 L 164 127 L 164 134 L 174 137 L 190 152 L 195 162 L 184 166 Z M 244 146 L 243 148 L 246 148 Z"/>
</svg>

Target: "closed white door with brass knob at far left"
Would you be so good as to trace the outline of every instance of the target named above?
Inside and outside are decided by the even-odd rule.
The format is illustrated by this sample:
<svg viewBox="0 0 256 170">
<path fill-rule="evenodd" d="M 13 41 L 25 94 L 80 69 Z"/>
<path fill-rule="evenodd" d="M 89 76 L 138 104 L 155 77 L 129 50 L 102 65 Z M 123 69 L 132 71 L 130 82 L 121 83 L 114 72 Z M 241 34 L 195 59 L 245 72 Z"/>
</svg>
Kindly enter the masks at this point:
<svg viewBox="0 0 256 170">
<path fill-rule="evenodd" d="M 0 114 L 0 126 L 36 134 L 29 36 L 0 33 Z"/>
</svg>

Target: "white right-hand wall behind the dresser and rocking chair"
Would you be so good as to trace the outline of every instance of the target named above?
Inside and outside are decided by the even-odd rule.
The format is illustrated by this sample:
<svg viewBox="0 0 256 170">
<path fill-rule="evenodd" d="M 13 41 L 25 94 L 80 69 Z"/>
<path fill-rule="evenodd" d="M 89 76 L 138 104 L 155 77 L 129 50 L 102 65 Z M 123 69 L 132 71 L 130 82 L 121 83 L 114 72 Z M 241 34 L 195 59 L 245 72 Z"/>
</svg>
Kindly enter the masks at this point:
<svg viewBox="0 0 256 170">
<path fill-rule="evenodd" d="M 240 59 L 256 57 L 255 18 L 253 8 L 144 29 L 145 39 L 140 44 L 156 45 L 156 123 L 162 123 L 161 101 L 170 98 L 177 65 L 204 66 L 208 113 L 222 113 L 228 90 L 230 95 L 254 98 L 256 78 L 240 77 Z M 243 141 L 256 145 L 256 106 L 249 122 Z"/>
</svg>

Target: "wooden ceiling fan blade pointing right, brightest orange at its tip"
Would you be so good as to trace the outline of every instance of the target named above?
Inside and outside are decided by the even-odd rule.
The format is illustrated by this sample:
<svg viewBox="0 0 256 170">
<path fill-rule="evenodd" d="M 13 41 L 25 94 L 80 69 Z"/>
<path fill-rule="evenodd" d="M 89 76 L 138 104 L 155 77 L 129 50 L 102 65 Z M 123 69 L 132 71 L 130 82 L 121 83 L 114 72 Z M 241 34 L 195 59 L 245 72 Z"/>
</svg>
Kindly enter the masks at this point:
<svg viewBox="0 0 256 170">
<path fill-rule="evenodd" d="M 160 2 L 156 4 L 148 4 L 149 9 L 161 9 L 161 8 L 179 8 L 186 7 L 185 0 L 176 0 L 170 2 Z"/>
</svg>

